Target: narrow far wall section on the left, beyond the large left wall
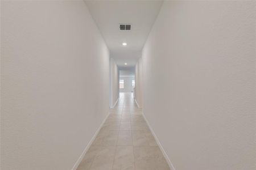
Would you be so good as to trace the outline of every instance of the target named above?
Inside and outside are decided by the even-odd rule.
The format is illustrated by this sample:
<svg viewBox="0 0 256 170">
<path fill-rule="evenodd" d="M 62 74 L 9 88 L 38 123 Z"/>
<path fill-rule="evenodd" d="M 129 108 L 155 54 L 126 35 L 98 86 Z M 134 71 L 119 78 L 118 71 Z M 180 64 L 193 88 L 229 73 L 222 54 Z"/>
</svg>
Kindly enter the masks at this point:
<svg viewBox="0 0 256 170">
<path fill-rule="evenodd" d="M 110 107 L 119 99 L 119 70 L 113 58 L 110 58 Z"/>
</svg>

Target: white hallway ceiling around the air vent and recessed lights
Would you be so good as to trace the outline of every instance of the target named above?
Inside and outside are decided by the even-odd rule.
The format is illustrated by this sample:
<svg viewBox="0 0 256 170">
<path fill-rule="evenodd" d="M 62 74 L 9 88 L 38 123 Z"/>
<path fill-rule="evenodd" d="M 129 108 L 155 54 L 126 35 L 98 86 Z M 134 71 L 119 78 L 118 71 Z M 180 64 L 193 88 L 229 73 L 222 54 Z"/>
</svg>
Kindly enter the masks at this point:
<svg viewBox="0 0 256 170">
<path fill-rule="evenodd" d="M 85 1 L 118 67 L 135 66 L 162 2 Z M 120 31 L 119 23 L 131 24 L 131 31 Z"/>
</svg>

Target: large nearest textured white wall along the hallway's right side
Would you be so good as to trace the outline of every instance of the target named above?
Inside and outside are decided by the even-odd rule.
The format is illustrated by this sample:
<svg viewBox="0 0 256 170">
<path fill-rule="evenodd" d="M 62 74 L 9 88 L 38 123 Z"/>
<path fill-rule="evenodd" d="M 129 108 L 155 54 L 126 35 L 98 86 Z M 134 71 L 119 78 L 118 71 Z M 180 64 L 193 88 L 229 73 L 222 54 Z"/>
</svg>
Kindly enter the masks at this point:
<svg viewBox="0 0 256 170">
<path fill-rule="evenodd" d="M 167 1 L 143 48 L 143 112 L 175 169 L 255 169 L 255 1 Z"/>
</svg>

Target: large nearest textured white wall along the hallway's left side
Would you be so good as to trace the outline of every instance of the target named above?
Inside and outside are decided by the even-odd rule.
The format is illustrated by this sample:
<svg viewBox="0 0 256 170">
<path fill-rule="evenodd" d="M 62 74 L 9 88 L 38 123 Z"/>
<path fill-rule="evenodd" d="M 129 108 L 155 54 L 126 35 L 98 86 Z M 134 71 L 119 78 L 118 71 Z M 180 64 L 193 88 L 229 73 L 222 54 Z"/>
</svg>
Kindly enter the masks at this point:
<svg viewBox="0 0 256 170">
<path fill-rule="evenodd" d="M 109 51 L 83 1 L 1 1 L 1 168 L 72 169 L 109 110 Z"/>
</svg>

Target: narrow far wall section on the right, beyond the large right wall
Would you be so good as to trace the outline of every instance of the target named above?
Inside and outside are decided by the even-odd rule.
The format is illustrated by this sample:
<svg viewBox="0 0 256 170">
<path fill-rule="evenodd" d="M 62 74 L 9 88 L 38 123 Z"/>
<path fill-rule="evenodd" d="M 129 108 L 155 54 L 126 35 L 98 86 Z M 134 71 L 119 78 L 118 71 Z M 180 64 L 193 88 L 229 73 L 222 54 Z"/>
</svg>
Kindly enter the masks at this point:
<svg viewBox="0 0 256 170">
<path fill-rule="evenodd" d="M 140 108 L 143 107 L 143 87 L 142 87 L 142 58 L 139 58 L 135 66 L 135 100 Z"/>
</svg>

